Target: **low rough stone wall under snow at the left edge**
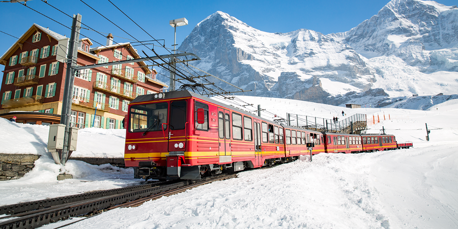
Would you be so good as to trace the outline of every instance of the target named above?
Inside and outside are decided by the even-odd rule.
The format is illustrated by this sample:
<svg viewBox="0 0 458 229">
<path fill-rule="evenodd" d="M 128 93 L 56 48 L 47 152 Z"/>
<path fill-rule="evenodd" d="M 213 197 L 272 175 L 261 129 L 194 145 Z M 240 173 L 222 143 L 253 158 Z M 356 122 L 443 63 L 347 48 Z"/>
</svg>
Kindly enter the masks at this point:
<svg viewBox="0 0 458 229">
<path fill-rule="evenodd" d="M 23 177 L 39 158 L 33 154 L 0 154 L 0 181 Z"/>
</svg>

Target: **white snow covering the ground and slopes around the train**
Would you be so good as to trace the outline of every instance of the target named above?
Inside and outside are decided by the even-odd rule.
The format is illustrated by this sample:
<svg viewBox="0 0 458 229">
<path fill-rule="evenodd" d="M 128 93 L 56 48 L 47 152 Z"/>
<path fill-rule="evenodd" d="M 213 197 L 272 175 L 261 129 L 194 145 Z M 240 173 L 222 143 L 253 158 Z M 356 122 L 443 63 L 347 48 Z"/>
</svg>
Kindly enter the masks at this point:
<svg viewBox="0 0 458 229">
<path fill-rule="evenodd" d="M 218 99 L 218 98 L 215 98 Z M 261 105 L 262 116 L 286 112 L 332 118 L 367 114 L 368 133 L 385 130 L 414 148 L 361 154 L 319 154 L 313 161 L 295 161 L 267 169 L 247 170 L 236 179 L 213 182 L 186 192 L 161 197 L 136 208 L 115 209 L 65 228 L 456 228 L 458 227 L 458 100 L 428 110 L 396 108 L 350 109 L 311 102 L 237 96 Z M 247 107 L 253 111 L 254 107 Z M 268 112 L 267 112 L 268 111 Z M 383 120 L 383 115 L 386 120 Z M 377 123 L 377 116 L 381 122 Z M 390 117 L 390 118 L 388 118 Z M 425 140 L 425 123 L 431 130 Z M 0 119 L 3 151 L 42 155 L 23 178 L 0 182 L 1 205 L 139 184 L 132 169 L 89 165 L 69 160 L 74 179 L 57 181 L 62 169 L 40 151 L 47 141 L 43 126 Z M 118 130 L 88 129 L 80 136 L 81 154 L 92 155 L 124 144 Z M 20 147 L 14 138 L 20 136 Z M 108 136 L 108 137 L 106 137 Z M 104 137 L 110 140 L 106 140 Z M 81 140 L 81 138 L 78 138 Z M 30 142 L 29 142 L 30 141 Z M 119 141 L 119 142 L 118 142 Z M 96 142 L 91 147 L 84 146 Z M 79 144 L 82 144 L 81 146 Z M 34 147 L 35 146 L 35 147 Z M 11 149 L 10 149 L 11 148 Z M 89 153 L 87 149 L 92 148 Z M 41 153 L 40 153 L 40 152 Z M 118 149 L 119 151 L 119 149 Z M 97 154 L 97 155 L 103 155 Z M 109 155 L 107 157 L 115 157 Z M 56 224 L 44 228 L 53 228 Z"/>
</svg>

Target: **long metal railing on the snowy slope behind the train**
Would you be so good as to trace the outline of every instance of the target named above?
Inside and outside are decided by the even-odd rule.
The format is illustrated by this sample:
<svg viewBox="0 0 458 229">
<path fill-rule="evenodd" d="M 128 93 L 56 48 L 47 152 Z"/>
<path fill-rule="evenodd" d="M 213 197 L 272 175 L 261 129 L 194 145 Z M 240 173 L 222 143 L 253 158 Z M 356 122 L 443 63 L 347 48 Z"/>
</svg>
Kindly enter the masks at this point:
<svg viewBox="0 0 458 229">
<path fill-rule="evenodd" d="M 310 130 L 335 133 L 360 133 L 367 126 L 366 115 L 359 113 L 341 121 L 288 113 L 286 120 L 277 120 L 276 122 Z"/>
</svg>

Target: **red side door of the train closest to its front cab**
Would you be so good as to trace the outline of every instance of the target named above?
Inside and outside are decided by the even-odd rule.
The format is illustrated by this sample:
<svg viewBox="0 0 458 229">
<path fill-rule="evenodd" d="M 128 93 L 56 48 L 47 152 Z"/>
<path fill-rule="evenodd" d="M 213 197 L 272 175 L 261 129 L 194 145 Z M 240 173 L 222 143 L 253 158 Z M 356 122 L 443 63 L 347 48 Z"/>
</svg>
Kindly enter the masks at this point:
<svg viewBox="0 0 458 229">
<path fill-rule="evenodd" d="M 219 156 L 231 156 L 231 116 L 218 107 Z"/>
</svg>

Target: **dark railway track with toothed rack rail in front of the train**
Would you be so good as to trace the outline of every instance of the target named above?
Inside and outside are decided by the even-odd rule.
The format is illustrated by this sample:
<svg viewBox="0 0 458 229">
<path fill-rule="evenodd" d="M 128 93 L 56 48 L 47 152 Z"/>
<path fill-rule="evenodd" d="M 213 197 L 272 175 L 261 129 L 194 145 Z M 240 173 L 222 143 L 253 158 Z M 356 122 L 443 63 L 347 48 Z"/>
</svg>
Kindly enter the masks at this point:
<svg viewBox="0 0 458 229">
<path fill-rule="evenodd" d="M 36 228 L 69 217 L 95 215 L 103 210 L 119 207 L 136 207 L 150 199 L 173 195 L 200 185 L 234 177 L 237 175 L 213 176 L 198 181 L 155 182 L 0 206 L 0 215 L 8 214 L 0 217 L 0 229 Z"/>
</svg>

